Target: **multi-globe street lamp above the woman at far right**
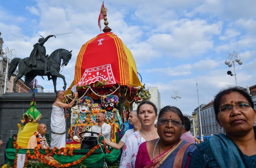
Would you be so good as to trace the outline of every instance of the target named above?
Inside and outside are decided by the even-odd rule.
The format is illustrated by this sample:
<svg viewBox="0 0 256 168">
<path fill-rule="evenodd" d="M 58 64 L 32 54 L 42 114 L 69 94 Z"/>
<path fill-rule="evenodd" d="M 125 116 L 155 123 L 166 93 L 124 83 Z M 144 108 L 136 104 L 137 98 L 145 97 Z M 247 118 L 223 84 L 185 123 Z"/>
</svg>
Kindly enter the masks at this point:
<svg viewBox="0 0 256 168">
<path fill-rule="evenodd" d="M 225 61 L 225 64 L 228 65 L 228 67 L 232 67 L 232 62 L 233 62 L 233 65 L 234 65 L 234 73 L 235 74 L 232 74 L 232 72 L 228 71 L 228 75 L 231 75 L 231 76 L 235 76 L 235 79 L 236 79 L 236 68 L 235 68 L 235 61 L 239 64 L 239 65 L 242 65 L 243 64 L 243 61 L 240 60 L 240 55 L 234 51 L 232 54 L 231 53 L 227 53 L 226 54 L 226 61 Z M 237 83 L 236 83 L 237 85 Z"/>
</svg>

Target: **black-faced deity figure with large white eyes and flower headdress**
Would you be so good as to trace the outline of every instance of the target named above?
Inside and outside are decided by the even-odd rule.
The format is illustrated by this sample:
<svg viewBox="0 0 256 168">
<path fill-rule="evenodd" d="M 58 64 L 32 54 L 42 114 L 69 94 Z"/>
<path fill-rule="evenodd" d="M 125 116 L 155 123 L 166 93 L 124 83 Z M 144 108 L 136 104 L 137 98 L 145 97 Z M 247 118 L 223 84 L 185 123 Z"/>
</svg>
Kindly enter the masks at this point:
<svg viewBox="0 0 256 168">
<path fill-rule="evenodd" d="M 118 101 L 118 96 L 109 95 L 106 97 L 101 97 L 102 108 L 104 108 L 105 120 L 106 123 L 115 123 L 118 125 L 119 129 L 121 128 L 122 118 L 119 115 L 119 111 L 116 109 Z"/>
</svg>

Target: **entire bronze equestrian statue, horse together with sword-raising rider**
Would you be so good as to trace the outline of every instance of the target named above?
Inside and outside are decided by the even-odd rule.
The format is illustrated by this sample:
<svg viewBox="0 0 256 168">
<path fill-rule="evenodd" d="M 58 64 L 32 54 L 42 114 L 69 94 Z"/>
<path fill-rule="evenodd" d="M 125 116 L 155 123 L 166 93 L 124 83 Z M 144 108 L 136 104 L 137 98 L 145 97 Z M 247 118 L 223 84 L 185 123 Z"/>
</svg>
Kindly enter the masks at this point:
<svg viewBox="0 0 256 168">
<path fill-rule="evenodd" d="M 32 81 L 36 76 L 48 76 L 48 79 L 52 79 L 54 85 L 54 92 L 57 92 L 57 77 L 60 77 L 63 79 L 64 82 L 63 90 L 66 90 L 67 83 L 65 77 L 60 74 L 60 68 L 68 64 L 68 61 L 71 59 L 72 56 L 72 51 L 57 49 L 52 52 L 51 55 L 48 57 L 48 55 L 46 55 L 44 43 L 52 36 L 54 35 L 47 36 L 46 38 L 40 38 L 38 40 L 39 43 L 36 43 L 34 45 L 34 49 L 29 57 L 24 59 L 14 58 L 11 61 L 11 66 L 8 71 L 9 80 L 12 76 L 12 73 L 19 65 L 18 75 L 14 78 L 13 81 L 14 92 L 17 92 L 16 83 L 22 76 L 25 76 L 24 84 L 26 84 L 31 90 L 34 90 L 34 88 L 29 85 L 29 82 Z M 62 64 L 61 60 L 63 60 Z"/>
</svg>

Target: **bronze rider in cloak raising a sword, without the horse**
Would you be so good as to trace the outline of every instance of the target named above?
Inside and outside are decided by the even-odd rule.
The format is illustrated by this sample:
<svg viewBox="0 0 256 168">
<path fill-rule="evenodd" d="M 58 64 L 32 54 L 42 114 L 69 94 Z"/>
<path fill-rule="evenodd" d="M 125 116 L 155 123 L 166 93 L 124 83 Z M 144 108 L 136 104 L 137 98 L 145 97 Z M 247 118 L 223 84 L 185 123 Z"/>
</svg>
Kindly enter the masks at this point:
<svg viewBox="0 0 256 168">
<path fill-rule="evenodd" d="M 41 36 L 41 35 L 40 35 Z M 50 38 L 52 37 L 53 35 L 50 35 L 50 36 L 47 36 L 46 38 L 39 38 L 38 42 L 39 43 L 36 43 L 34 45 L 34 49 L 33 51 L 31 52 L 30 56 L 29 56 L 29 59 L 26 60 L 26 64 L 28 66 L 33 66 L 33 67 L 36 67 L 36 63 L 37 63 L 37 60 L 41 60 L 44 62 L 44 74 L 46 75 L 47 73 L 49 73 L 50 71 L 47 71 L 47 64 L 48 64 L 48 61 L 47 61 L 47 57 L 46 57 L 46 50 L 45 50 L 45 47 L 44 47 L 44 43 Z"/>
</svg>

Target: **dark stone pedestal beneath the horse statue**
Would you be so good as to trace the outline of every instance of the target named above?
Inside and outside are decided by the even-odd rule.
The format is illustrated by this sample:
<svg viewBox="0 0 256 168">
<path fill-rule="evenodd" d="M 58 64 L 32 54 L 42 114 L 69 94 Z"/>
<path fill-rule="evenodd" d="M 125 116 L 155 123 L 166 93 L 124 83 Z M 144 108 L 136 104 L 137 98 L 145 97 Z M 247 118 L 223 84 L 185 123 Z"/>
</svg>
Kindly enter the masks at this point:
<svg viewBox="0 0 256 168">
<path fill-rule="evenodd" d="M 38 124 L 46 124 L 47 133 L 51 136 L 52 104 L 56 100 L 56 93 L 35 93 L 35 97 L 36 108 L 42 114 Z M 9 137 L 13 134 L 18 134 L 19 128 L 17 124 L 20 122 L 22 115 L 30 108 L 31 98 L 32 93 L 4 93 L 0 97 L 0 135 L 2 135 L 2 140 L 4 141 L 0 148 L 0 164 L 4 164 L 6 143 Z M 68 119 L 66 124 L 69 128 L 70 119 Z M 67 131 L 68 128 L 66 128 Z"/>
</svg>

